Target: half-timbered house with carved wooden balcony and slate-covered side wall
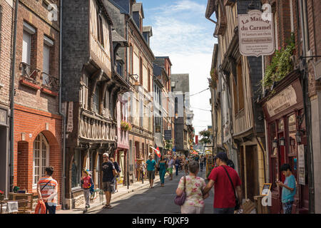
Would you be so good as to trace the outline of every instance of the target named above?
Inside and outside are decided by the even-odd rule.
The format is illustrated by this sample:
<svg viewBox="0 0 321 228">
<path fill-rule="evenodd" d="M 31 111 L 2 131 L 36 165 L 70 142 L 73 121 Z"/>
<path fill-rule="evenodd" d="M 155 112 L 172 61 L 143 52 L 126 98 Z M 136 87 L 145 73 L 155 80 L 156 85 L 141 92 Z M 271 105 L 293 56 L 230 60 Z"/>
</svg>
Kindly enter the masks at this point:
<svg viewBox="0 0 321 228">
<path fill-rule="evenodd" d="M 106 4 L 101 0 L 63 1 L 63 12 L 66 207 L 73 208 L 83 203 L 81 170 L 91 170 L 95 186 L 102 188 L 103 153 L 115 156 L 116 103 L 126 82 L 116 71 L 113 21 Z"/>
</svg>

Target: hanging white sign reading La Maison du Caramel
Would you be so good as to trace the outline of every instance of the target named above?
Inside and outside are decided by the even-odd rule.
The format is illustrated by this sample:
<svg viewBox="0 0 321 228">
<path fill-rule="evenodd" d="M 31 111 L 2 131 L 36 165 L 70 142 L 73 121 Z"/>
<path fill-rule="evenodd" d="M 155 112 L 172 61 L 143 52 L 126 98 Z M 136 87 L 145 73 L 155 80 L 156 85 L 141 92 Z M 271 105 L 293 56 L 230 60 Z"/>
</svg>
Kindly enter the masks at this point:
<svg viewBox="0 0 321 228">
<path fill-rule="evenodd" d="M 240 53 L 243 56 L 270 56 L 275 51 L 273 17 L 259 10 L 238 14 Z"/>
</svg>

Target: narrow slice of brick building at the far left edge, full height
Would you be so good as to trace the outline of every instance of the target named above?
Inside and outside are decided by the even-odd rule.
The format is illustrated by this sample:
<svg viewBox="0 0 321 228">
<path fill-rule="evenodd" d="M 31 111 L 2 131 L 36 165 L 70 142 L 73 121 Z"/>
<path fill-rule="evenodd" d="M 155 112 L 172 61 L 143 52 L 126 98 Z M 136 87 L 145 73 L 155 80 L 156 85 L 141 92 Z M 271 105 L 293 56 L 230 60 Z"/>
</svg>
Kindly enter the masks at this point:
<svg viewBox="0 0 321 228">
<path fill-rule="evenodd" d="M 0 1 L 0 190 L 9 192 L 10 86 L 14 2 Z"/>
</svg>

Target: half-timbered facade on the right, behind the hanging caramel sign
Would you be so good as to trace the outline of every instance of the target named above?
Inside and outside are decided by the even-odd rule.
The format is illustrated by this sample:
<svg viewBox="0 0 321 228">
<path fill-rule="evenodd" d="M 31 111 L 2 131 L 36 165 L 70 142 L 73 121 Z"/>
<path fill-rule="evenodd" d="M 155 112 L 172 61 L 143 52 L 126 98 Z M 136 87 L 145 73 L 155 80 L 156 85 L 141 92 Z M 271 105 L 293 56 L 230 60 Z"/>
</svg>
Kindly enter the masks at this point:
<svg viewBox="0 0 321 228">
<path fill-rule="evenodd" d="M 262 58 L 241 56 L 238 46 L 238 14 L 247 14 L 250 4 L 253 9 L 260 9 L 260 1 L 208 1 L 205 17 L 210 19 L 215 12 L 217 18 L 214 36 L 218 38 L 220 62 L 214 66 L 218 75 L 215 77 L 223 79 L 218 81 L 218 99 L 226 107 L 230 94 L 230 108 L 221 106 L 218 112 L 217 125 L 221 129 L 218 142 L 238 164 L 245 199 L 254 200 L 266 180 L 263 109 L 256 103 L 260 95 Z"/>
</svg>

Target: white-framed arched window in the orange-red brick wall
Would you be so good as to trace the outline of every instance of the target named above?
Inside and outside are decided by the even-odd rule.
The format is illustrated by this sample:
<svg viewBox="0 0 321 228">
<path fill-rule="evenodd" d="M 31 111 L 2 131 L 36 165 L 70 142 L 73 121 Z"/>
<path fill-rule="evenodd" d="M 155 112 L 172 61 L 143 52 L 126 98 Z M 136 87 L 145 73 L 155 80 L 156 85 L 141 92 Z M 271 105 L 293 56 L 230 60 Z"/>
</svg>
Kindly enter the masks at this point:
<svg viewBox="0 0 321 228">
<path fill-rule="evenodd" d="M 36 143 L 39 142 L 38 148 L 36 148 Z M 45 148 L 44 148 L 45 147 Z M 35 165 L 35 158 L 36 158 L 36 150 L 39 150 L 39 174 L 36 175 L 36 165 Z M 32 164 L 32 189 L 37 188 L 37 183 L 41 177 L 44 177 L 46 175 L 45 169 L 49 166 L 49 143 L 44 137 L 43 134 L 39 134 L 36 139 L 34 140 L 34 154 L 33 154 L 33 164 Z M 46 153 L 46 160 L 44 161 L 44 152 Z M 35 177 L 39 176 L 39 179 L 35 182 Z"/>
</svg>

